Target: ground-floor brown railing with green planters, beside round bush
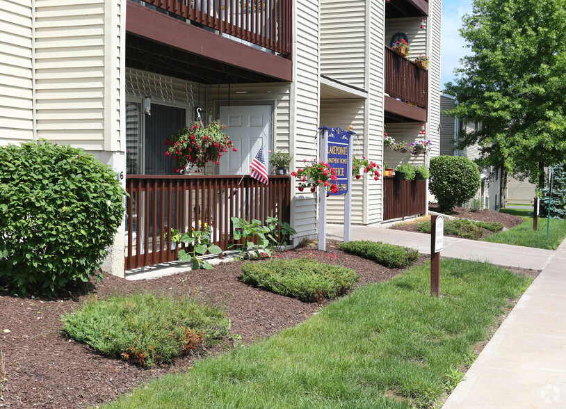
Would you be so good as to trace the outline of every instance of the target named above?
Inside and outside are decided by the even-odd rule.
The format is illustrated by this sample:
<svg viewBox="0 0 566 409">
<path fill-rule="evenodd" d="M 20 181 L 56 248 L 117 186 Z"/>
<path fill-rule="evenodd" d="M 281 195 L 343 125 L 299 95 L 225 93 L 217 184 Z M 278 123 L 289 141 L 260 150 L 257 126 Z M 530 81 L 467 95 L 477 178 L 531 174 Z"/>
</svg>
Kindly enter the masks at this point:
<svg viewBox="0 0 566 409">
<path fill-rule="evenodd" d="M 383 220 L 424 214 L 426 180 L 383 178 Z"/>
</svg>

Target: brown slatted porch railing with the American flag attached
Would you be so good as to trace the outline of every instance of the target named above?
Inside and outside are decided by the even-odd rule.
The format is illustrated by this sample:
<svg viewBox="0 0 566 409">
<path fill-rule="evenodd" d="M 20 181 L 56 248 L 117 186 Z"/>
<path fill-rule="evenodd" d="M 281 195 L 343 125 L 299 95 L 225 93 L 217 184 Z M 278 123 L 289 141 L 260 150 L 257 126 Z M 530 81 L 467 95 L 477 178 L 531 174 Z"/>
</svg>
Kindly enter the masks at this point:
<svg viewBox="0 0 566 409">
<path fill-rule="evenodd" d="M 231 217 L 290 221 L 291 178 L 270 176 L 268 186 L 249 176 L 129 175 L 126 178 L 127 270 L 177 260 L 171 229 L 211 228 L 211 240 L 227 250 Z"/>
</svg>

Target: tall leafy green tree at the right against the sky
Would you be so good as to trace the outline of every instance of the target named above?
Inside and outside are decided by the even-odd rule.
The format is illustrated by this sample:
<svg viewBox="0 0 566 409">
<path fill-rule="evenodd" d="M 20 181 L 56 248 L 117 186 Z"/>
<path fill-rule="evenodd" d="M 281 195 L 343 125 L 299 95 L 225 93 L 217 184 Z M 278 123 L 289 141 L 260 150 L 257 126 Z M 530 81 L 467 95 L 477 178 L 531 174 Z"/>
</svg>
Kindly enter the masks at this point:
<svg viewBox="0 0 566 409">
<path fill-rule="evenodd" d="M 482 127 L 460 145 L 542 189 L 544 167 L 566 157 L 566 0 L 474 0 L 462 21 L 471 54 L 446 83 L 458 99 L 446 113 Z"/>
</svg>

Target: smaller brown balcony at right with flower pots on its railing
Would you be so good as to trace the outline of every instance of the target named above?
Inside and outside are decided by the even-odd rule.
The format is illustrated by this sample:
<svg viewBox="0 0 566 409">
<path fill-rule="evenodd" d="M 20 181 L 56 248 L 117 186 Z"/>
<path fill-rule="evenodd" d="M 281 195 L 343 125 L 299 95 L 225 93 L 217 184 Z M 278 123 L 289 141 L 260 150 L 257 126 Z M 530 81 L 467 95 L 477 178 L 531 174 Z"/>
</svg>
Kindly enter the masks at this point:
<svg viewBox="0 0 566 409">
<path fill-rule="evenodd" d="M 426 122 L 428 104 L 428 71 L 412 61 L 398 56 L 385 47 L 386 116 L 391 120 L 401 117 Z M 389 114 L 388 114 L 389 113 Z M 400 118 L 396 118 L 400 117 Z"/>
</svg>

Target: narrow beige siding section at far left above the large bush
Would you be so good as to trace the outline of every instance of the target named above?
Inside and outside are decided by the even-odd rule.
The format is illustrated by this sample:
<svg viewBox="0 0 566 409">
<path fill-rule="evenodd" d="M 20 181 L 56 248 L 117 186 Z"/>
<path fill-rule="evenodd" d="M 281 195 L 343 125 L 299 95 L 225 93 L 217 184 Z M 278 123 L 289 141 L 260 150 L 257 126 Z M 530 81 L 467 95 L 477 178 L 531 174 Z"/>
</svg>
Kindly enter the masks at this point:
<svg viewBox="0 0 566 409">
<path fill-rule="evenodd" d="M 0 145 L 33 139 L 32 1 L 0 1 Z"/>
</svg>

